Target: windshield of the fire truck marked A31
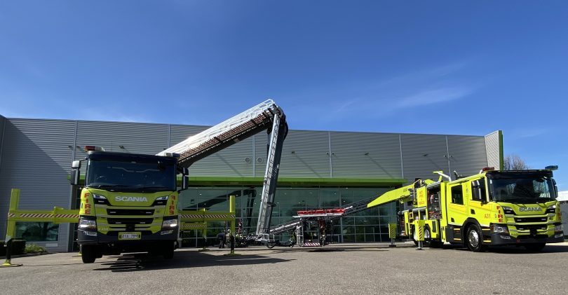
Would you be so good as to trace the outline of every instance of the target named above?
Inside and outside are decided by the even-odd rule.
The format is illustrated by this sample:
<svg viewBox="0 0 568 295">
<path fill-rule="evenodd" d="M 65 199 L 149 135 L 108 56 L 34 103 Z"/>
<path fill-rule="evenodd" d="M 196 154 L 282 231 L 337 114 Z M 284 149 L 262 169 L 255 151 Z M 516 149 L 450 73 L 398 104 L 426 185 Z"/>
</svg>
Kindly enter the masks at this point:
<svg viewBox="0 0 568 295">
<path fill-rule="evenodd" d="M 555 200 L 554 184 L 549 177 L 489 179 L 489 194 L 494 201 L 541 203 Z"/>
</svg>

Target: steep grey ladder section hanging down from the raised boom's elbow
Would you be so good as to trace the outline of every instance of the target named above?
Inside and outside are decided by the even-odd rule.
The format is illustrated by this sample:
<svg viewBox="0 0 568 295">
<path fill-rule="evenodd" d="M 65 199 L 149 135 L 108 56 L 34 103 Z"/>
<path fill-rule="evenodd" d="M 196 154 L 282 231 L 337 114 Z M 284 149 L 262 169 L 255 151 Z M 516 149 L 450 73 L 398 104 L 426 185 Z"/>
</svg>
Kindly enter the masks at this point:
<svg viewBox="0 0 568 295">
<path fill-rule="evenodd" d="M 280 116 L 275 116 L 271 130 L 256 232 L 256 240 L 260 241 L 270 240 L 269 227 L 272 218 L 274 195 L 276 193 L 276 181 L 278 180 L 278 172 L 280 170 L 280 156 L 282 156 L 284 138 L 288 134 L 288 125 L 285 123 L 285 118 L 280 119 Z"/>
</svg>

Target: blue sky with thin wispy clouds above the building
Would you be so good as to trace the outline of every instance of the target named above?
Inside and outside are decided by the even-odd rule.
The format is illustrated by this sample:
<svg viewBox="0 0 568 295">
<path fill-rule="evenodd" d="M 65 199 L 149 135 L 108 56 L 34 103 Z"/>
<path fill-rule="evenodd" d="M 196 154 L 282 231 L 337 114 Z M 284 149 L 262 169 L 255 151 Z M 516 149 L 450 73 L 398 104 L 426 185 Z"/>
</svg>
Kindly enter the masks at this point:
<svg viewBox="0 0 568 295">
<path fill-rule="evenodd" d="M 0 114 L 486 135 L 568 189 L 566 1 L 2 1 Z"/>
</svg>

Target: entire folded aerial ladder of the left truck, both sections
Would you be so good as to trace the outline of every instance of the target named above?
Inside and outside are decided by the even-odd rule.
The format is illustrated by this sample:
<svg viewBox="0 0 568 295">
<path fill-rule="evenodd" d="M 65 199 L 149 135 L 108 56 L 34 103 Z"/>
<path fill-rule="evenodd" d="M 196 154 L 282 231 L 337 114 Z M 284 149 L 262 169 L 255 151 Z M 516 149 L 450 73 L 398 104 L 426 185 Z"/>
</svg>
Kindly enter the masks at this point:
<svg viewBox="0 0 568 295">
<path fill-rule="evenodd" d="M 157 155 L 164 156 L 167 153 L 177 153 L 180 155 L 179 165 L 189 167 L 197 160 L 241 142 L 243 139 L 263 130 L 267 130 L 270 137 L 257 231 L 254 238 L 257 241 L 266 242 L 269 240 L 269 226 L 276 193 L 276 182 L 280 171 L 282 146 L 286 135 L 288 135 L 288 123 L 286 123 L 285 114 L 272 100 L 266 100 L 247 111 L 243 111 L 243 113 L 193 135 Z"/>
</svg>

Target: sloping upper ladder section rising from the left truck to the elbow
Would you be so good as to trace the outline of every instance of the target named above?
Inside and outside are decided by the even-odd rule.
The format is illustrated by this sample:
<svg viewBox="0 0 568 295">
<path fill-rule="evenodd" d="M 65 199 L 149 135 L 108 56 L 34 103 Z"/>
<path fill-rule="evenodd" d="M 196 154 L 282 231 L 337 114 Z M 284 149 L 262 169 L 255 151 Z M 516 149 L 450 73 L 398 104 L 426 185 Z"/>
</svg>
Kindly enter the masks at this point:
<svg viewBox="0 0 568 295">
<path fill-rule="evenodd" d="M 266 100 L 233 118 L 188 137 L 183 142 L 175 144 L 175 146 L 165 149 L 157 155 L 165 156 L 165 153 L 177 153 L 180 155 L 178 160 L 180 166 L 189 167 L 197 160 L 241 142 L 262 130 L 269 129 L 276 118 L 280 121 L 280 117 L 283 116 L 282 109 L 273 100 Z"/>
</svg>

